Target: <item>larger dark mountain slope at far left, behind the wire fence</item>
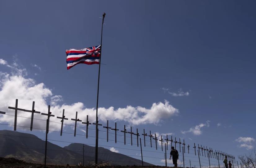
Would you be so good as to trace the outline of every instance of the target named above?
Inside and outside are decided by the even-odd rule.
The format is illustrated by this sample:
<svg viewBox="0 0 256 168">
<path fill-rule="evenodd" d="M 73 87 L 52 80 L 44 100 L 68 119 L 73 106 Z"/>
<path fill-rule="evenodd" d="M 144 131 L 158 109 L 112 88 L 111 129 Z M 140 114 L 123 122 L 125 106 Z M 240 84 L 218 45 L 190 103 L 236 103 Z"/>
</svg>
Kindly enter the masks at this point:
<svg viewBox="0 0 256 168">
<path fill-rule="evenodd" d="M 28 133 L 0 130 L 0 157 L 15 157 L 27 162 L 43 163 L 45 141 Z M 85 163 L 94 161 L 85 157 Z M 82 155 L 58 145 L 47 142 L 47 164 L 77 165 L 82 162 Z"/>
</svg>

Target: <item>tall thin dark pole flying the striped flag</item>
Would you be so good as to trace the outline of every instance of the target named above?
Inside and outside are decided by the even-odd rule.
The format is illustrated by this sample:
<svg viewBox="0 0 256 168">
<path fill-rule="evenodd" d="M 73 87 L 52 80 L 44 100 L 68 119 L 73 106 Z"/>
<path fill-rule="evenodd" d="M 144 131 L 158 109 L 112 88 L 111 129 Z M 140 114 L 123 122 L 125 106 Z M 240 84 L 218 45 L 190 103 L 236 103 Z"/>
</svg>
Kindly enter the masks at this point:
<svg viewBox="0 0 256 168">
<path fill-rule="evenodd" d="M 100 58 L 99 58 L 99 73 L 100 73 L 100 62 L 101 62 L 101 49 L 102 49 L 102 31 L 103 31 L 103 24 L 105 13 L 102 17 L 102 25 L 101 25 L 101 40 L 100 40 Z M 98 164 L 98 103 L 99 103 L 99 76 L 98 76 L 98 92 L 97 92 L 97 106 L 96 106 L 96 142 L 95 142 L 95 164 Z"/>
</svg>

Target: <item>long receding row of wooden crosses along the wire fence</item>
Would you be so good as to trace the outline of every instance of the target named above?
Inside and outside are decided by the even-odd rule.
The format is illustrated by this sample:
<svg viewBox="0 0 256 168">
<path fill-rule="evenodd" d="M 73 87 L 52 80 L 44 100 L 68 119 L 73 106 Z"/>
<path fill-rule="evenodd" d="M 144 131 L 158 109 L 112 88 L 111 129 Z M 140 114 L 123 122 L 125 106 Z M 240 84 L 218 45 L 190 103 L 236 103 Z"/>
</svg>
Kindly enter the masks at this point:
<svg viewBox="0 0 256 168">
<path fill-rule="evenodd" d="M 37 113 L 37 114 L 40 114 L 41 112 L 40 111 L 36 111 L 34 109 L 35 107 L 35 102 L 33 101 L 32 103 L 32 110 L 26 110 L 26 109 L 21 109 L 21 108 L 18 108 L 18 99 L 16 99 L 16 102 L 15 102 L 15 107 L 8 107 L 9 109 L 13 109 L 15 110 L 15 118 L 14 118 L 14 131 L 16 131 L 16 127 L 17 127 L 17 111 L 25 111 L 25 112 L 30 112 L 31 113 L 31 124 L 30 124 L 30 131 L 32 131 L 33 129 L 33 118 L 34 118 L 34 113 Z M 0 111 L 0 114 L 5 114 L 5 112 L 3 111 Z M 50 111 L 50 105 L 48 106 L 48 113 L 41 113 L 41 115 L 46 115 L 47 116 L 47 126 L 46 126 L 46 132 L 48 133 L 49 132 L 49 123 L 50 123 L 50 117 L 54 117 L 55 115 L 52 115 L 51 114 L 51 111 Z M 62 112 L 62 116 L 57 116 L 58 119 L 61 119 L 61 130 L 60 130 L 60 136 L 62 136 L 62 132 L 63 132 L 63 124 L 64 124 L 64 120 L 68 120 L 68 118 L 65 117 L 64 115 L 64 109 L 63 109 L 63 112 Z M 76 117 L 73 119 L 71 119 L 73 121 L 75 121 L 75 130 L 74 130 L 74 136 L 76 136 L 76 128 L 77 128 L 77 122 L 81 122 L 82 124 L 85 124 L 86 125 L 86 138 L 88 138 L 88 126 L 93 124 L 93 125 L 98 125 L 98 126 L 102 126 L 102 124 L 99 124 L 99 122 L 96 122 L 96 123 L 90 123 L 89 120 L 88 120 L 88 115 L 86 116 L 86 122 L 82 122 L 82 120 L 79 120 L 77 118 L 77 111 L 76 111 Z M 107 126 L 104 126 L 103 128 L 106 128 L 107 129 L 107 142 L 108 142 L 108 130 L 111 129 L 111 130 L 114 130 L 115 131 L 115 143 L 117 143 L 117 131 L 119 131 L 119 129 L 117 129 L 117 123 L 115 123 L 115 128 L 111 128 L 108 126 L 108 120 L 107 120 Z M 139 132 L 138 132 L 138 128 L 136 129 L 136 133 L 134 133 L 132 131 L 132 127 L 130 127 L 130 132 L 127 131 L 126 129 L 126 126 L 124 125 L 124 130 L 121 130 L 121 132 L 124 133 L 124 144 L 126 145 L 126 134 L 130 134 L 130 139 L 131 139 L 131 145 L 133 145 L 132 143 L 132 135 L 135 135 L 137 137 L 137 146 L 139 147 Z M 170 145 L 172 146 L 173 143 L 175 143 L 175 149 L 176 149 L 176 144 L 179 144 L 179 151 L 181 152 L 181 145 L 183 145 L 183 149 L 184 149 L 184 153 L 186 152 L 185 151 L 185 140 L 183 139 L 183 143 L 180 141 L 180 138 L 179 138 L 179 141 L 176 140 L 176 137 L 175 139 L 173 140 L 172 136 L 171 136 L 171 139 L 168 139 L 168 135 L 166 135 L 166 139 L 163 139 L 162 138 L 162 135 L 160 135 L 161 139 L 157 139 L 157 135 L 155 133 L 155 135 L 151 134 L 151 131 L 149 131 L 149 134 L 145 133 L 145 129 L 143 129 L 143 134 L 141 134 L 142 136 L 144 136 L 144 146 L 146 146 L 146 136 L 148 136 L 150 138 L 150 146 L 152 147 L 152 139 L 155 140 L 155 143 L 156 143 L 156 149 L 157 149 L 157 143 L 158 141 L 161 142 L 161 149 L 163 151 L 163 142 L 164 140 L 166 141 L 166 145 L 167 145 L 167 150 L 168 150 L 168 143 L 170 143 Z M 188 148 L 188 153 L 189 153 L 189 149 L 190 149 L 190 146 L 188 145 L 187 146 Z M 201 147 L 199 146 L 198 144 L 198 147 L 196 147 L 196 144 L 194 143 L 194 151 L 195 151 L 195 155 L 196 155 L 196 148 L 198 148 L 198 151 L 199 151 L 199 155 L 202 155 L 202 156 L 205 156 L 205 157 L 211 157 L 211 158 L 215 158 L 215 159 L 221 159 L 221 160 L 224 160 L 224 157 L 227 156 L 229 160 L 231 160 L 232 162 L 235 162 L 235 157 L 232 156 L 232 155 L 229 155 L 227 153 L 224 153 L 222 151 L 213 151 L 212 148 L 205 148 L 205 146 L 202 146 Z M 201 151 L 200 151 L 201 149 Z M 206 155 L 207 153 L 207 155 Z"/>
</svg>

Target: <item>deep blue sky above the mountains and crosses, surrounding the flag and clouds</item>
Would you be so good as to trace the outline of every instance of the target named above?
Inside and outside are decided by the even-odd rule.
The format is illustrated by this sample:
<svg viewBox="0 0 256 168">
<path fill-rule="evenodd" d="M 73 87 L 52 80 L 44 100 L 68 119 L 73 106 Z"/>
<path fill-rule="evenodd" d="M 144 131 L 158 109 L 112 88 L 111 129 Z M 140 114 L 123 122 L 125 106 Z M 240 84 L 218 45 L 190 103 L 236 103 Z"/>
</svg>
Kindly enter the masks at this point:
<svg viewBox="0 0 256 168">
<path fill-rule="evenodd" d="M 6 62 L 0 65 L 0 97 L 8 95 L 13 103 L 20 97 L 32 104 L 31 97 L 10 94 L 10 88 L 3 87 L 6 81 L 32 79 L 25 88 L 43 83 L 46 89 L 38 101 L 50 104 L 51 97 L 60 95 L 55 97 L 62 100 L 56 107 L 82 102 L 82 109 L 95 108 L 98 65 L 67 70 L 65 49 L 99 45 L 99 17 L 105 12 L 101 62 L 106 65 L 101 66 L 99 107 L 151 109 L 153 103 L 166 100 L 179 113 L 169 111 L 159 114 L 157 123 L 145 120 L 132 126 L 140 132 L 147 128 L 173 133 L 191 146 L 195 142 L 236 156 L 246 153 L 255 140 L 237 139 L 256 138 L 255 5 L 254 1 L 1 1 L 0 58 Z M 20 69 L 24 71 L 18 78 Z M 7 111 L 8 105 L 2 106 Z M 117 120 L 118 126 L 129 125 L 127 120 Z M 199 124 L 201 132 L 193 133 Z M 32 133 L 44 137 L 42 132 Z M 74 141 L 73 136 L 66 139 Z"/>
</svg>

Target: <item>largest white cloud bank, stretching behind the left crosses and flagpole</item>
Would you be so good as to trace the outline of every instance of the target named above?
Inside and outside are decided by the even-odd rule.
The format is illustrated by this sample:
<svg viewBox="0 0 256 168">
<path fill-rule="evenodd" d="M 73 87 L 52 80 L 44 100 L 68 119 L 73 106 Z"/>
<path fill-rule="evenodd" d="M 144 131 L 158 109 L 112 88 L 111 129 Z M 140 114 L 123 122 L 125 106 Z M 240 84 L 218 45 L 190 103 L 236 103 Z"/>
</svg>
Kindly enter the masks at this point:
<svg viewBox="0 0 256 168">
<path fill-rule="evenodd" d="M 16 64 L 17 67 L 19 67 Z M 23 73 L 24 72 L 24 73 Z M 53 95 L 51 89 L 47 88 L 44 83 L 36 83 L 31 78 L 26 78 L 26 69 L 20 71 L 17 68 L 16 74 L 0 72 L 0 110 L 7 111 L 8 114 L 14 114 L 14 110 L 8 109 L 8 106 L 15 107 L 15 99 L 18 100 L 18 107 L 24 109 L 32 108 L 32 101 L 35 101 L 35 110 L 47 113 L 48 103 L 51 101 L 51 112 L 55 116 L 62 116 L 62 110 L 65 109 L 67 118 L 73 118 L 75 112 L 78 111 L 78 118 L 86 121 L 86 115 L 89 115 L 89 121 L 95 122 L 95 108 L 86 108 L 81 102 L 73 104 L 60 104 L 62 96 Z M 99 107 L 98 117 L 102 122 L 107 120 L 126 121 L 131 125 L 138 124 L 159 124 L 163 119 L 170 118 L 179 114 L 179 110 L 174 108 L 167 100 L 163 103 L 153 103 L 151 107 L 133 107 L 126 106 L 124 108 Z M 18 115 L 30 117 L 29 112 L 18 111 Z M 44 115 L 35 114 L 34 118 L 46 119 Z M 30 119 L 18 118 L 17 125 L 30 126 Z M 0 115 L 0 122 L 13 124 L 13 117 L 9 115 Z M 60 122 L 56 117 L 51 121 Z M 74 124 L 71 120 L 65 120 L 65 124 Z M 81 124 L 80 122 L 78 124 Z M 34 128 L 45 129 L 44 121 L 34 122 Z M 84 126 L 84 125 L 83 125 Z M 21 129 L 21 128 L 20 128 Z M 51 130 L 59 130 L 60 124 L 50 123 Z"/>
</svg>

